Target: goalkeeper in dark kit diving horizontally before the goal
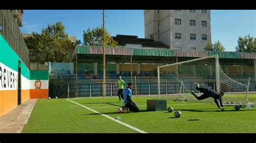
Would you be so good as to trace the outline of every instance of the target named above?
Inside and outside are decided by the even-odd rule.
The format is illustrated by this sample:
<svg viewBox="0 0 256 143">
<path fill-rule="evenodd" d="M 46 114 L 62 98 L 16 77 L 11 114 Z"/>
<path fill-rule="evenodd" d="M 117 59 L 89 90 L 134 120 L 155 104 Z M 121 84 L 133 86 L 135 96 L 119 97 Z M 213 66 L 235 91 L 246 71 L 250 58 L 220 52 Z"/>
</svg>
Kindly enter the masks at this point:
<svg viewBox="0 0 256 143">
<path fill-rule="evenodd" d="M 213 91 L 212 89 L 207 89 L 207 88 L 200 88 L 198 83 L 195 83 L 197 85 L 196 89 L 199 90 L 200 92 L 203 92 L 204 94 L 201 96 L 197 96 L 196 94 L 194 94 L 194 91 L 191 92 L 191 94 L 196 97 L 198 100 L 203 100 L 206 99 L 208 97 L 212 97 L 214 98 L 214 102 L 216 103 L 216 105 L 218 106 L 218 109 L 221 109 L 222 111 L 224 111 L 223 108 L 223 104 L 222 104 L 222 98 L 224 96 L 224 92 L 221 91 L 219 94 L 215 91 Z M 219 102 L 217 101 L 217 99 L 219 100 Z"/>
</svg>

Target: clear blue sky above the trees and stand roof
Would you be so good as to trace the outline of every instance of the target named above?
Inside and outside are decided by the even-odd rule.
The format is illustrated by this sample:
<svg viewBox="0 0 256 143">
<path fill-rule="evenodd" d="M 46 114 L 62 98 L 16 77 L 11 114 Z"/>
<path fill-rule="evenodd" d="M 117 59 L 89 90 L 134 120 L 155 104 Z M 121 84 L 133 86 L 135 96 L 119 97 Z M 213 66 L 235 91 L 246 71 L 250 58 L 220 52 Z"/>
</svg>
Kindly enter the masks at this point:
<svg viewBox="0 0 256 143">
<path fill-rule="evenodd" d="M 143 10 L 106 10 L 105 27 L 112 36 L 144 38 Z M 41 33 L 48 24 L 62 22 L 65 32 L 83 42 L 83 31 L 103 25 L 102 10 L 24 10 L 22 33 Z M 256 10 L 211 10 L 212 42 L 235 51 L 239 36 L 256 38 Z"/>
</svg>

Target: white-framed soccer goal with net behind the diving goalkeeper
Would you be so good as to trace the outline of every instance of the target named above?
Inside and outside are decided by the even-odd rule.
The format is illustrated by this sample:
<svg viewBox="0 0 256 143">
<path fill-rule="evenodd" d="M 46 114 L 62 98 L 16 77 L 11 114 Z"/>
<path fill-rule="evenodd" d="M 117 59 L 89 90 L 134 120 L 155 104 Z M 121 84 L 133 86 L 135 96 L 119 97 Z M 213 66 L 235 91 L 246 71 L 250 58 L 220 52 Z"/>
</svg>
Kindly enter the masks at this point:
<svg viewBox="0 0 256 143">
<path fill-rule="evenodd" d="M 228 77 L 220 68 L 218 55 L 158 67 L 159 98 L 162 96 L 163 98 L 172 97 L 172 99 L 180 101 L 183 99 L 184 101 L 197 101 L 190 94 L 191 91 L 194 91 L 198 96 L 202 94 L 196 89 L 195 82 L 199 83 L 202 88 L 212 89 L 218 93 L 220 91 L 225 92 L 223 96 L 223 102 L 225 103 L 248 103 L 246 94 L 248 85 Z M 238 92 L 242 93 L 238 95 Z M 214 103 L 211 97 L 197 102 Z"/>
</svg>

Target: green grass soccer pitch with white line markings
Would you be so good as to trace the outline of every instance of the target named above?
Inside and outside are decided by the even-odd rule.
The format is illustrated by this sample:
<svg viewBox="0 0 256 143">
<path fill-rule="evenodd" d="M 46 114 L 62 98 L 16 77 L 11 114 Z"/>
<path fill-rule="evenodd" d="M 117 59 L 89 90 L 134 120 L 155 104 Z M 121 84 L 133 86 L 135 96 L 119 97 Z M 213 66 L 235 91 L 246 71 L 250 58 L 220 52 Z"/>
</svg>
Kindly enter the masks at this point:
<svg viewBox="0 0 256 143">
<path fill-rule="evenodd" d="M 256 107 L 251 110 L 200 102 L 167 100 L 174 111 L 146 111 L 147 99 L 138 97 L 141 112 L 117 113 L 117 97 L 38 99 L 23 133 L 256 133 Z M 164 98 L 164 97 L 163 97 Z M 213 99 L 212 99 L 213 100 Z M 248 95 L 256 103 L 256 95 Z M 135 101 L 135 97 L 133 97 Z M 76 103 L 73 103 L 76 102 Z M 174 112 L 181 117 L 175 118 Z M 117 120 L 120 116 L 120 120 Z"/>
</svg>

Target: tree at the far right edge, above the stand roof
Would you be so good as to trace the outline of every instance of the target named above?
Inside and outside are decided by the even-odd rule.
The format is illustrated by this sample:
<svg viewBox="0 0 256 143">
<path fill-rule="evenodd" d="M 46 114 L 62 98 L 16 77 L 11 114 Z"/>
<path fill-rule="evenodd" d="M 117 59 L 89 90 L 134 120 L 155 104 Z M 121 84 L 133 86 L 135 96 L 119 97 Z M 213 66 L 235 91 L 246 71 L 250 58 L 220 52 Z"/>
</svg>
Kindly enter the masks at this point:
<svg viewBox="0 0 256 143">
<path fill-rule="evenodd" d="M 250 37 L 250 34 L 244 38 L 239 37 L 237 42 L 236 52 L 256 52 L 256 38 Z"/>
</svg>

